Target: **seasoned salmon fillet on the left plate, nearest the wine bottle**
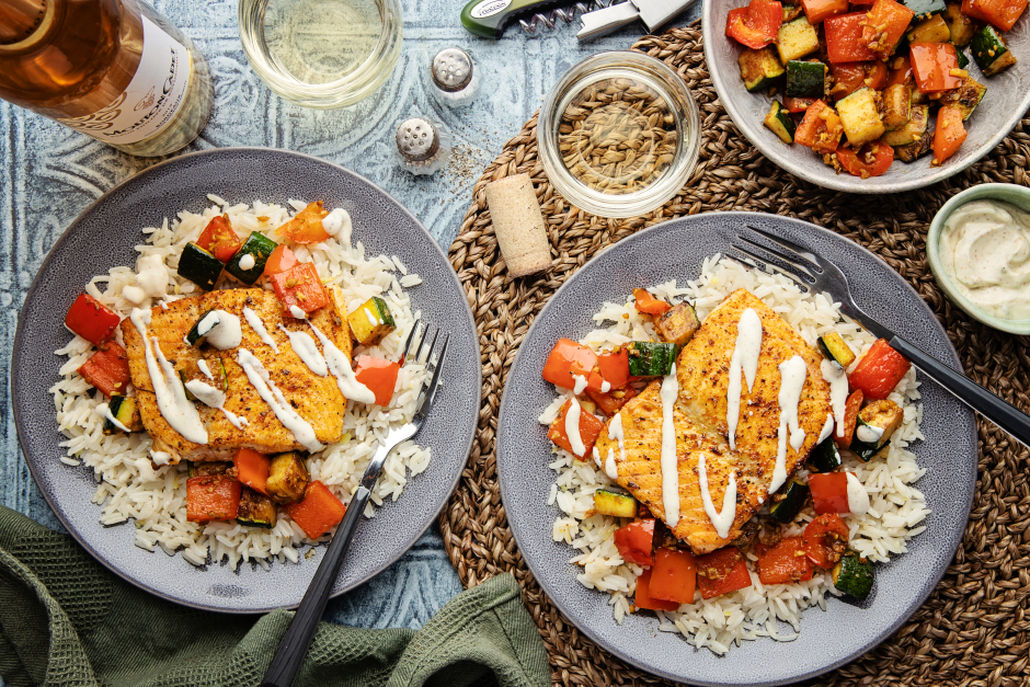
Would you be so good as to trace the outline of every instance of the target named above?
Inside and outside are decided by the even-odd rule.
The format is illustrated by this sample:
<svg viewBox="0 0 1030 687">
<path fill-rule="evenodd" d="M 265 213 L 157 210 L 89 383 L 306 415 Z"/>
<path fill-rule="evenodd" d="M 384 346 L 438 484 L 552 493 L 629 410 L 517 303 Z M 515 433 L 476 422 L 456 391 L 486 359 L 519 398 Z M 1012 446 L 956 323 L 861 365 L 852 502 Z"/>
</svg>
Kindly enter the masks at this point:
<svg viewBox="0 0 1030 687">
<path fill-rule="evenodd" d="M 346 305 L 337 288 L 333 287 L 331 295 L 333 304 L 310 313 L 309 318 L 325 336 L 335 342 L 347 358 L 351 358 L 351 332 L 346 316 L 343 314 L 346 313 Z M 264 322 L 268 335 L 278 346 L 278 354 L 263 343 L 247 323 L 243 317 L 244 307 L 253 310 Z M 180 460 L 229 460 L 239 448 L 251 448 L 263 454 L 304 450 L 304 446 L 279 422 L 272 408 L 261 399 L 243 368 L 237 363 L 239 348 L 219 351 L 206 343 L 191 346 L 183 341 L 197 319 L 208 310 L 215 309 L 240 318 L 243 334 L 240 348 L 250 351 L 268 370 L 273 383 L 279 388 L 294 410 L 311 425 L 318 440 L 323 444 L 337 442 L 343 432 L 346 399 L 340 392 L 335 377 L 320 377 L 304 364 L 279 325 L 313 336 L 311 329 L 307 323 L 286 314 L 273 293 L 261 288 L 239 288 L 183 298 L 169 304 L 167 310 L 160 306 L 152 308 L 151 321 L 147 325 L 148 335 L 158 340 L 164 357 L 178 371 L 185 375 L 186 379 L 205 379 L 199 376 L 197 368 L 197 360 L 201 358 L 213 369 L 219 364 L 225 366 L 228 383 L 225 408 L 245 417 L 249 424 L 242 430 L 237 428 L 220 410 L 197 401 L 194 405 L 207 430 L 207 444 L 190 442 L 173 430 L 161 415 L 147 368 L 142 339 L 130 320 L 122 322 L 122 335 L 128 354 L 133 386 L 136 388 L 140 419 L 144 428 L 153 438 L 154 450 L 169 453 L 173 463 Z"/>
</svg>

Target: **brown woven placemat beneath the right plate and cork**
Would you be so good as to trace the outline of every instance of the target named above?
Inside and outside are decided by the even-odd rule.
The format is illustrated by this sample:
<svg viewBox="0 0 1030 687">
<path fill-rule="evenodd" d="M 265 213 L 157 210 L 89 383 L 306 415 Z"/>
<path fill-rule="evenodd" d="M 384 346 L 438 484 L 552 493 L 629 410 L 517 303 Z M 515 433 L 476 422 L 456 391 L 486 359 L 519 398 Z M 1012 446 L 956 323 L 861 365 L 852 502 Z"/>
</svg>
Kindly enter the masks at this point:
<svg viewBox="0 0 1030 687">
<path fill-rule="evenodd" d="M 571 207 L 548 183 L 537 158 L 534 117 L 476 183 L 474 202 L 450 247 L 451 264 L 479 329 L 483 402 L 468 467 L 440 516 L 444 542 L 467 587 L 504 571 L 515 574 L 547 643 L 553 680 L 562 685 L 665 683 L 609 655 L 561 616 L 515 546 L 497 485 L 497 409 L 518 344 L 551 294 L 602 248 L 666 219 L 712 210 L 775 213 L 826 227 L 858 241 L 903 275 L 948 330 L 966 373 L 1030 410 L 1030 340 L 988 329 L 953 307 L 934 282 L 925 255 L 929 222 L 951 195 L 983 182 L 1030 183 L 1026 175 L 1030 119 L 1025 118 L 978 164 L 942 184 L 903 196 L 842 194 L 791 176 L 736 130 L 708 78 L 697 24 L 646 36 L 633 48 L 678 71 L 700 107 L 700 162 L 683 194 L 648 217 L 628 220 L 603 219 Z M 483 187 L 524 172 L 533 178 L 543 208 L 553 266 L 545 274 L 511 279 L 497 251 Z M 815 682 L 1030 684 L 1030 454 L 983 422 L 980 442 L 970 524 L 934 595 L 893 638 Z"/>
</svg>

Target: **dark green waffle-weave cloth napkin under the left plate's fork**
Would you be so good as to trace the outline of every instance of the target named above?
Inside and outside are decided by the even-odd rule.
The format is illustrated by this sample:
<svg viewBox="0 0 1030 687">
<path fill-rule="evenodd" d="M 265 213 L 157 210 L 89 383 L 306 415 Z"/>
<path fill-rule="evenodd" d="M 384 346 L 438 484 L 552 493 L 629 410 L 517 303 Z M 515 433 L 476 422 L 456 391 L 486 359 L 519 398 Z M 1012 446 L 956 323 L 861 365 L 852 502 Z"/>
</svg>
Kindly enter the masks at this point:
<svg viewBox="0 0 1030 687">
<path fill-rule="evenodd" d="M 0 675 L 11 687 L 258 685 L 293 616 L 178 606 L 112 574 L 71 537 L 0 507 Z M 455 597 L 417 632 L 322 622 L 296 685 L 549 683 L 543 642 L 506 574 Z"/>
</svg>

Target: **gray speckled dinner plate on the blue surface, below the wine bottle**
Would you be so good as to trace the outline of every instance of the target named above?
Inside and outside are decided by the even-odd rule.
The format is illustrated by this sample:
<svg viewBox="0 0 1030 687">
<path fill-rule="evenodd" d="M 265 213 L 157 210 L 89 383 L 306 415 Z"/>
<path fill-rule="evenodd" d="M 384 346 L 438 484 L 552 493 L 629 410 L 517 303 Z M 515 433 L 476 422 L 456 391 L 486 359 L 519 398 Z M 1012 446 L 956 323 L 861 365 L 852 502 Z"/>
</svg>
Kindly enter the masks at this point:
<svg viewBox="0 0 1030 687">
<path fill-rule="evenodd" d="M 425 472 L 411 478 L 396 502 L 363 520 L 333 595 L 342 594 L 396 561 L 425 533 L 457 484 L 476 432 L 482 377 L 479 340 L 465 291 L 419 220 L 368 180 L 318 158 L 271 148 L 221 148 L 181 156 L 115 186 L 91 205 L 50 249 L 25 297 L 11 363 L 14 420 L 22 453 L 54 513 L 94 558 L 133 584 L 173 602 L 226 612 L 264 612 L 300 603 L 325 547 L 301 551 L 300 562 L 251 563 L 232 570 L 198 569 L 157 548 L 137 548 L 131 522 L 104 527 L 90 503 L 93 471 L 58 460 L 64 449 L 47 389 L 66 358 L 54 351 L 69 341 L 65 310 L 95 274 L 135 265 L 140 229 L 160 226 L 180 210 L 201 213 L 214 193 L 229 203 L 324 201 L 353 218 L 353 240 L 366 253 L 397 255 L 423 283 L 407 289 L 422 321 L 450 333 L 443 387 L 415 440 L 433 451 Z"/>
</svg>

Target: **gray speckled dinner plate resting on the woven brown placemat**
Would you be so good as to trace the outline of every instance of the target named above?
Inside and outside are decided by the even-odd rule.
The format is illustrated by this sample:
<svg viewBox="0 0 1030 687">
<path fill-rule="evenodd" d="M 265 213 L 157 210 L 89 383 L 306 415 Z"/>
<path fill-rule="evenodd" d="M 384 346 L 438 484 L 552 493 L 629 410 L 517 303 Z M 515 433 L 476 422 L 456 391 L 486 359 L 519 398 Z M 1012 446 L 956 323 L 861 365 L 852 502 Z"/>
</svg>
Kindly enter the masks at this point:
<svg viewBox="0 0 1030 687">
<path fill-rule="evenodd" d="M 501 495 L 523 558 L 564 616 L 595 642 L 640 668 L 696 685 L 779 685 L 812 677 L 869 651 L 908 618 L 941 579 L 962 539 L 976 481 L 973 413 L 924 375 L 923 433 L 912 450 L 927 468 L 916 486 L 932 513 L 908 552 L 877 565 L 872 596 L 862 604 L 831 597 L 826 611 L 810 608 L 793 642 L 759 639 L 723 657 L 697 651 L 679 634 L 659 632 L 650 612 L 615 623 L 608 595 L 581 585 L 568 561 L 573 549 L 551 540 L 558 506 L 548 506 L 554 472 L 546 427 L 537 422 L 554 398 L 540 371 L 554 342 L 594 329 L 605 300 L 623 302 L 634 287 L 700 274 L 708 255 L 730 249 L 744 225 L 808 245 L 847 275 L 867 312 L 955 369 L 958 355 L 930 309 L 890 266 L 857 243 L 808 222 L 776 215 L 717 213 L 675 219 L 626 238 L 583 266 L 537 316 L 508 373 L 497 427 Z M 785 629 L 789 626 L 782 626 Z"/>
</svg>

